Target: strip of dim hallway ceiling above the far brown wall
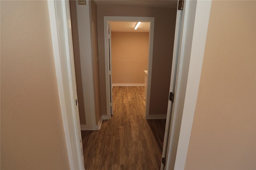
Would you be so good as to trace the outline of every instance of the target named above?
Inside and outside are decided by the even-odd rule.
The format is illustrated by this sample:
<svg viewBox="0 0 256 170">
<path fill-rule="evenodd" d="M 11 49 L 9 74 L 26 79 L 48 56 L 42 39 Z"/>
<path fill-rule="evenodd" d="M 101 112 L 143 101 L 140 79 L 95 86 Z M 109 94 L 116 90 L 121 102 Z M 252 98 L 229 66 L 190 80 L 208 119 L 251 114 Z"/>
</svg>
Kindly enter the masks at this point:
<svg viewBox="0 0 256 170">
<path fill-rule="evenodd" d="M 144 6 L 156 8 L 177 8 L 178 0 L 95 0 L 100 6 Z"/>
</svg>

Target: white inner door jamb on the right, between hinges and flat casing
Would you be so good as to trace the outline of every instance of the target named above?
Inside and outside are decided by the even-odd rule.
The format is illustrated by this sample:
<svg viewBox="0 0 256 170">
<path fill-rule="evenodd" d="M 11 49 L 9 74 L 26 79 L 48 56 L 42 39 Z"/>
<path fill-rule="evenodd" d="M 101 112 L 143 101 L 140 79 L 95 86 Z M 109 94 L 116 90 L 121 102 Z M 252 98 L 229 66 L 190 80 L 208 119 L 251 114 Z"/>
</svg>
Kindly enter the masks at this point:
<svg viewBox="0 0 256 170">
<path fill-rule="evenodd" d="M 191 43 L 193 39 L 193 28 L 196 13 L 196 1 L 185 1 L 182 15 L 180 48 L 178 56 L 177 76 L 175 84 L 174 103 L 170 123 L 170 133 L 168 136 L 168 146 L 166 153 L 166 166 L 164 169 L 173 170 L 176 160 L 177 147 L 180 134 L 180 125 L 186 94 L 186 84 L 190 61 Z"/>
</svg>

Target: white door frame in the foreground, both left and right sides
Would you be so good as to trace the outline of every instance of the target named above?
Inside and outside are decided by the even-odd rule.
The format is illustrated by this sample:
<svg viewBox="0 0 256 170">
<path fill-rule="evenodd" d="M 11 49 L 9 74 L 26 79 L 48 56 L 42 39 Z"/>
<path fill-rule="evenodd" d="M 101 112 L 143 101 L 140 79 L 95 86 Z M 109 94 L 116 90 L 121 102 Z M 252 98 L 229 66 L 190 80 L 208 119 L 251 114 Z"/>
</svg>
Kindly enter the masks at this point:
<svg viewBox="0 0 256 170">
<path fill-rule="evenodd" d="M 87 1 L 88 2 L 88 1 Z M 189 10 L 192 5 L 188 5 L 185 1 L 184 9 Z M 169 140 L 167 142 L 168 150 L 167 154 L 169 157 L 166 159 L 166 167 L 174 170 L 182 170 L 185 167 L 186 154 L 188 152 L 188 145 L 190 141 L 190 134 L 192 129 L 194 110 L 196 107 L 196 99 L 198 94 L 198 87 L 200 82 L 200 75 L 202 69 L 202 61 L 204 57 L 204 48 L 206 42 L 206 35 L 208 30 L 208 21 L 210 16 L 211 0 L 200 1 L 196 3 L 196 11 L 193 29 L 193 40 L 190 43 L 191 53 L 189 66 L 182 66 L 178 63 L 177 68 L 179 71 L 182 69 L 188 69 L 187 75 L 179 74 L 179 78 L 186 78 L 186 87 L 180 89 L 180 92 L 185 93 L 185 99 L 180 102 L 182 106 L 182 121 L 180 123 L 180 128 L 175 131 L 179 133 L 178 138 L 172 139 L 168 136 Z M 75 86 L 76 83 L 74 77 L 74 63 L 72 59 L 72 34 L 70 26 L 70 9 L 68 1 L 52 1 L 48 0 L 48 9 L 50 17 L 50 26 L 52 33 L 52 43 L 54 52 L 54 62 L 56 68 L 56 77 L 58 82 L 58 92 L 60 98 L 60 107 L 62 113 L 62 121 L 64 127 L 64 134 L 66 139 L 66 146 L 68 150 L 68 158 L 71 170 L 84 170 L 83 155 L 81 154 L 81 133 L 79 125 L 79 114 L 75 108 L 74 96 L 76 94 Z M 188 15 L 184 13 L 183 15 Z M 58 22 L 60 21 L 60 22 Z M 60 24 L 64 22 L 64 24 Z M 182 20 L 184 22 L 184 20 Z M 190 27 L 184 26 L 184 30 L 190 30 Z M 59 37 L 62 36 L 60 33 L 64 32 L 65 41 L 60 41 Z M 184 42 L 180 42 L 182 44 Z M 68 47 L 68 48 L 67 48 Z M 68 49 L 68 51 L 66 50 Z M 183 48 L 182 51 L 185 51 Z M 180 55 L 180 54 L 179 54 Z M 179 56 L 180 57 L 180 56 Z M 179 59 L 180 60 L 180 59 Z M 67 71 L 68 70 L 68 71 Z M 73 72 L 73 73 L 72 73 Z M 64 77 L 68 77 L 70 82 L 65 82 Z M 64 88 L 66 85 L 68 88 Z M 179 84 L 177 82 L 176 84 Z M 178 86 L 178 85 L 177 85 Z M 72 94 L 74 93 L 74 95 Z M 72 95 L 70 95 L 72 94 Z M 175 94 L 174 101 L 180 96 L 180 93 Z M 72 107 L 70 107 L 72 106 Z M 178 107 L 178 102 L 175 102 L 175 109 Z M 174 111 L 175 113 L 175 111 Z M 173 113 L 173 114 L 174 114 Z M 173 117 L 173 115 L 172 115 Z M 172 120 L 172 125 L 169 130 L 173 130 L 174 123 L 176 120 Z M 170 145 L 176 145 L 176 149 L 172 149 Z M 162 169 L 162 166 L 161 166 Z"/>
</svg>

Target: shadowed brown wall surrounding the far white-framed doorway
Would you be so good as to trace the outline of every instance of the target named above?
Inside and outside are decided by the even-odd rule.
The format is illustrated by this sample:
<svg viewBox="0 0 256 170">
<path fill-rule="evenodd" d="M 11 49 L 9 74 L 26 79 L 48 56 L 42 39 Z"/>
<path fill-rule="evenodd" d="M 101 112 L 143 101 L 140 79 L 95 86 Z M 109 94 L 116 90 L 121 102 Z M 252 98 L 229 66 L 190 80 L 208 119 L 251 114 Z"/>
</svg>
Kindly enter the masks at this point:
<svg viewBox="0 0 256 170">
<path fill-rule="evenodd" d="M 154 17 L 154 51 L 150 114 L 166 114 L 169 96 L 176 9 L 132 6 L 98 6 L 101 111 L 106 114 L 104 16 Z"/>
</svg>

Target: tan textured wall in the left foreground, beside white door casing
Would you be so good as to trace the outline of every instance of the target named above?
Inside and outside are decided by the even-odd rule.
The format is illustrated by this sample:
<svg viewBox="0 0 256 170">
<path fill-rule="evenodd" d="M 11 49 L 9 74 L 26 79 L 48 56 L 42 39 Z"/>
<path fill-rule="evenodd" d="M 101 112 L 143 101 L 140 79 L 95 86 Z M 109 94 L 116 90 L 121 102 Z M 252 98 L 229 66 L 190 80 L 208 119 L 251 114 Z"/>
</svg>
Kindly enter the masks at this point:
<svg viewBox="0 0 256 170">
<path fill-rule="evenodd" d="M 47 1 L 1 1 L 1 170 L 68 170 Z"/>
</svg>

